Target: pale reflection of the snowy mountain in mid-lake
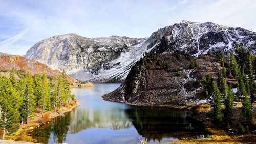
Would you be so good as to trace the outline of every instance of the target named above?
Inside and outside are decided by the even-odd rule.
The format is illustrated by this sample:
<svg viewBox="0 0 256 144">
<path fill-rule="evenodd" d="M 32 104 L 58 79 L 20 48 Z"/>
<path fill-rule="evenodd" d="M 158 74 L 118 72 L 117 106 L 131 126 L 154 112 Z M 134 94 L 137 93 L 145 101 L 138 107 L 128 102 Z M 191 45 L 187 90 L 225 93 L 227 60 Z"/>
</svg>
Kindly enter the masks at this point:
<svg viewBox="0 0 256 144">
<path fill-rule="evenodd" d="M 132 123 L 128 121 L 125 112 L 114 111 L 94 111 L 90 109 L 73 110 L 70 113 L 69 132 L 75 134 L 88 128 L 130 128 Z"/>
</svg>

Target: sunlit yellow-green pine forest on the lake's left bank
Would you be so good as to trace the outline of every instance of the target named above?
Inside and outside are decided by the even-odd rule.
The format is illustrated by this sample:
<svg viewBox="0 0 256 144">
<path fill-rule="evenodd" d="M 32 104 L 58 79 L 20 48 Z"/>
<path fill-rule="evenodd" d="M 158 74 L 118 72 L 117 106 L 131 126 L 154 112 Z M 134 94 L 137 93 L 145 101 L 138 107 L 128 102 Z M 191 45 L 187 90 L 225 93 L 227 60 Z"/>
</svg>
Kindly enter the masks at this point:
<svg viewBox="0 0 256 144">
<path fill-rule="evenodd" d="M 57 77 L 47 76 L 45 71 L 33 76 L 23 70 L 12 69 L 9 72 L 9 78 L 0 77 L 2 139 L 5 134 L 19 129 L 19 123 L 28 123 L 34 117 L 35 108 L 40 109 L 44 117 L 45 111 L 59 110 L 60 106 L 65 106 L 69 97 L 75 101 L 65 71 Z"/>
</svg>

